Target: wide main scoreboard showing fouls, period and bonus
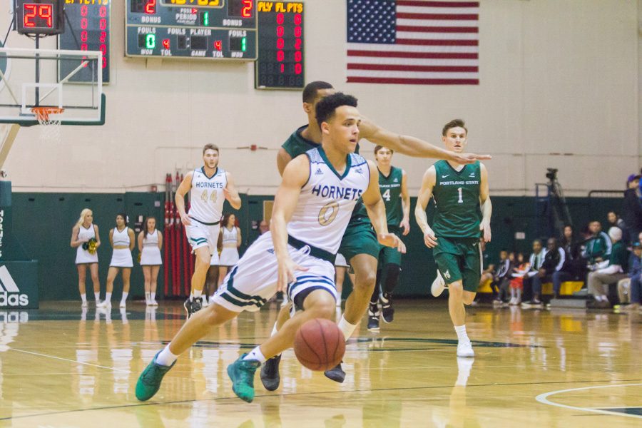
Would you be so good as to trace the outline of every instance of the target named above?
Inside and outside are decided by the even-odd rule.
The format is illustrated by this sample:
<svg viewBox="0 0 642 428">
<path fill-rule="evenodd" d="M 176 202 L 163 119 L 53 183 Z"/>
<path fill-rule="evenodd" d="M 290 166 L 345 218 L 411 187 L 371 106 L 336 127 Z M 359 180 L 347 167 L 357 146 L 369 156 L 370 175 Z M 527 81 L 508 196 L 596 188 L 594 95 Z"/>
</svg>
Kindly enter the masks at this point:
<svg viewBox="0 0 642 428">
<path fill-rule="evenodd" d="M 125 7 L 126 56 L 256 59 L 255 0 L 126 0 Z"/>
</svg>

